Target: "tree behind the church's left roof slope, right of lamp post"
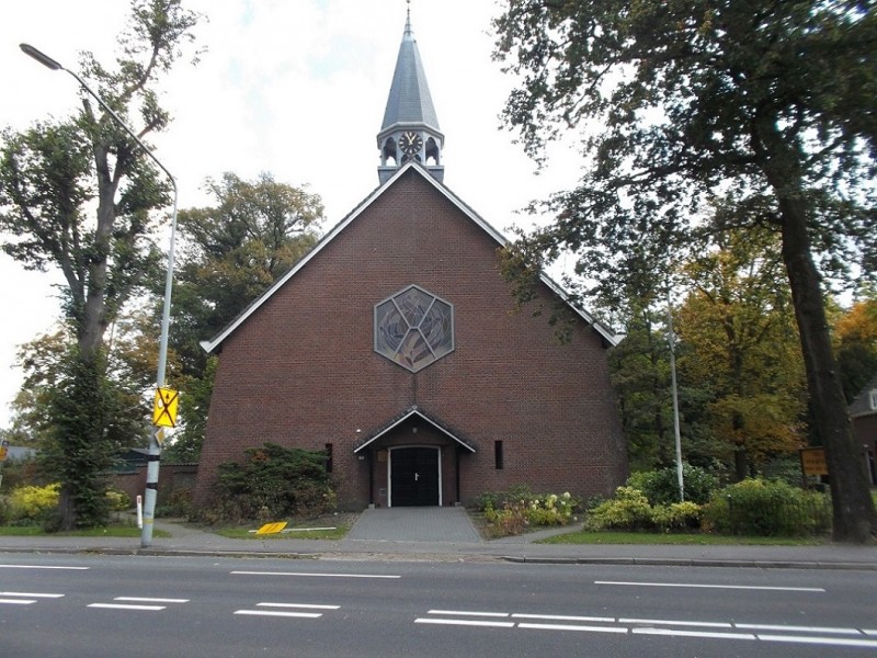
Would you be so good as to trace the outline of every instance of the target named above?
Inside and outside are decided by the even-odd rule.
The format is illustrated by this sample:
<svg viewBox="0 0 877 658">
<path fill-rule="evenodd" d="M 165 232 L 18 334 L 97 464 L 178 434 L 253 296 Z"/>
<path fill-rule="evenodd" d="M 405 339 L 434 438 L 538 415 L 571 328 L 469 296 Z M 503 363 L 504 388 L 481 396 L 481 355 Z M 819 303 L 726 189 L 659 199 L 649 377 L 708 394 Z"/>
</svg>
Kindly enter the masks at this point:
<svg viewBox="0 0 877 658">
<path fill-rule="evenodd" d="M 215 358 L 200 343 L 225 328 L 317 241 L 322 201 L 269 173 L 246 181 L 234 173 L 208 180 L 216 204 L 180 213 L 180 266 L 172 345 L 183 429 L 168 449 L 174 460 L 195 461 L 206 427 Z"/>
</svg>

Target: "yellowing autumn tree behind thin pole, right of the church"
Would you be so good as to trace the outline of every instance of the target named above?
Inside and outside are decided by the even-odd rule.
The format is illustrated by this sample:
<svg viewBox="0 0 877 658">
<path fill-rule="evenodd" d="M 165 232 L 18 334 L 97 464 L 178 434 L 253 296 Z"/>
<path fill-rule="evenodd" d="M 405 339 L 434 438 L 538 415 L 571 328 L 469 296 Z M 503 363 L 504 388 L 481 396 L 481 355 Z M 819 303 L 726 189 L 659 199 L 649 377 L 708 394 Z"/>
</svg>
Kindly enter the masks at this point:
<svg viewBox="0 0 877 658">
<path fill-rule="evenodd" d="M 713 434 L 733 451 L 738 479 L 752 463 L 804 443 L 804 364 L 788 284 L 766 229 L 716 236 L 718 248 L 685 266 L 691 291 L 680 308 L 680 361 L 690 386 L 706 400 Z"/>
</svg>

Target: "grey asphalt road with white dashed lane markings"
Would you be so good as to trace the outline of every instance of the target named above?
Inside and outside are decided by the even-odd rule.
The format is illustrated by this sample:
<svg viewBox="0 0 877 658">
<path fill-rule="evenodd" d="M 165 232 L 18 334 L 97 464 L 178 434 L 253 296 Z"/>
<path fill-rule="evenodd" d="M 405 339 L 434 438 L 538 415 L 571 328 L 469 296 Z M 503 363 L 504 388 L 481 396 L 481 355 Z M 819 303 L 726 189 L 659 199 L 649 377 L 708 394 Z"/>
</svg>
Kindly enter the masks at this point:
<svg viewBox="0 0 877 658">
<path fill-rule="evenodd" d="M 877 653 L 877 572 L 0 556 L 0 656 Z"/>
</svg>

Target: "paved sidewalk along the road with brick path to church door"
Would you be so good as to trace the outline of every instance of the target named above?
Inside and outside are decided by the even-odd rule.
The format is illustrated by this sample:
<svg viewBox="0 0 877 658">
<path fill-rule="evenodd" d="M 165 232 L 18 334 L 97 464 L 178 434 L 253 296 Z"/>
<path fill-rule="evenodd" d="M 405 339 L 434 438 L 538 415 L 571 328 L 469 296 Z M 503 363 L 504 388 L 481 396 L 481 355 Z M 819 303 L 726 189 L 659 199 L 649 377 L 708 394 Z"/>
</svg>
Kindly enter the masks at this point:
<svg viewBox="0 0 877 658">
<path fill-rule="evenodd" d="M 215 555 L 378 559 L 412 561 L 533 561 L 732 566 L 759 568 L 834 568 L 877 570 L 877 545 L 848 546 L 667 546 L 535 544 L 558 531 L 485 541 L 463 508 L 366 510 L 343 540 L 300 540 L 289 534 L 231 540 L 183 523 L 157 521 L 170 537 L 0 537 L 2 553 L 105 553 L 114 555 Z M 565 531 L 559 531 L 565 532 Z M 2 557 L 0 556 L 0 559 Z"/>
</svg>

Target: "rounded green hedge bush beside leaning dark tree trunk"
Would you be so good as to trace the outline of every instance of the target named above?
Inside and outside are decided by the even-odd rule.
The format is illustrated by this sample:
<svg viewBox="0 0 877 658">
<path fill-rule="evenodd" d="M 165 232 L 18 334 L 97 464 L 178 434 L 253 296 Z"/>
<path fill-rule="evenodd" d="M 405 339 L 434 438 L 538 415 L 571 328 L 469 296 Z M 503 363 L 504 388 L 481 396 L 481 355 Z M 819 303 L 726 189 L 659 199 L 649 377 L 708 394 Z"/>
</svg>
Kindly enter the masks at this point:
<svg viewBox="0 0 877 658">
<path fill-rule="evenodd" d="M 704 525 L 722 534 L 825 534 L 831 531 L 831 499 L 782 480 L 745 479 L 714 494 Z"/>
</svg>

